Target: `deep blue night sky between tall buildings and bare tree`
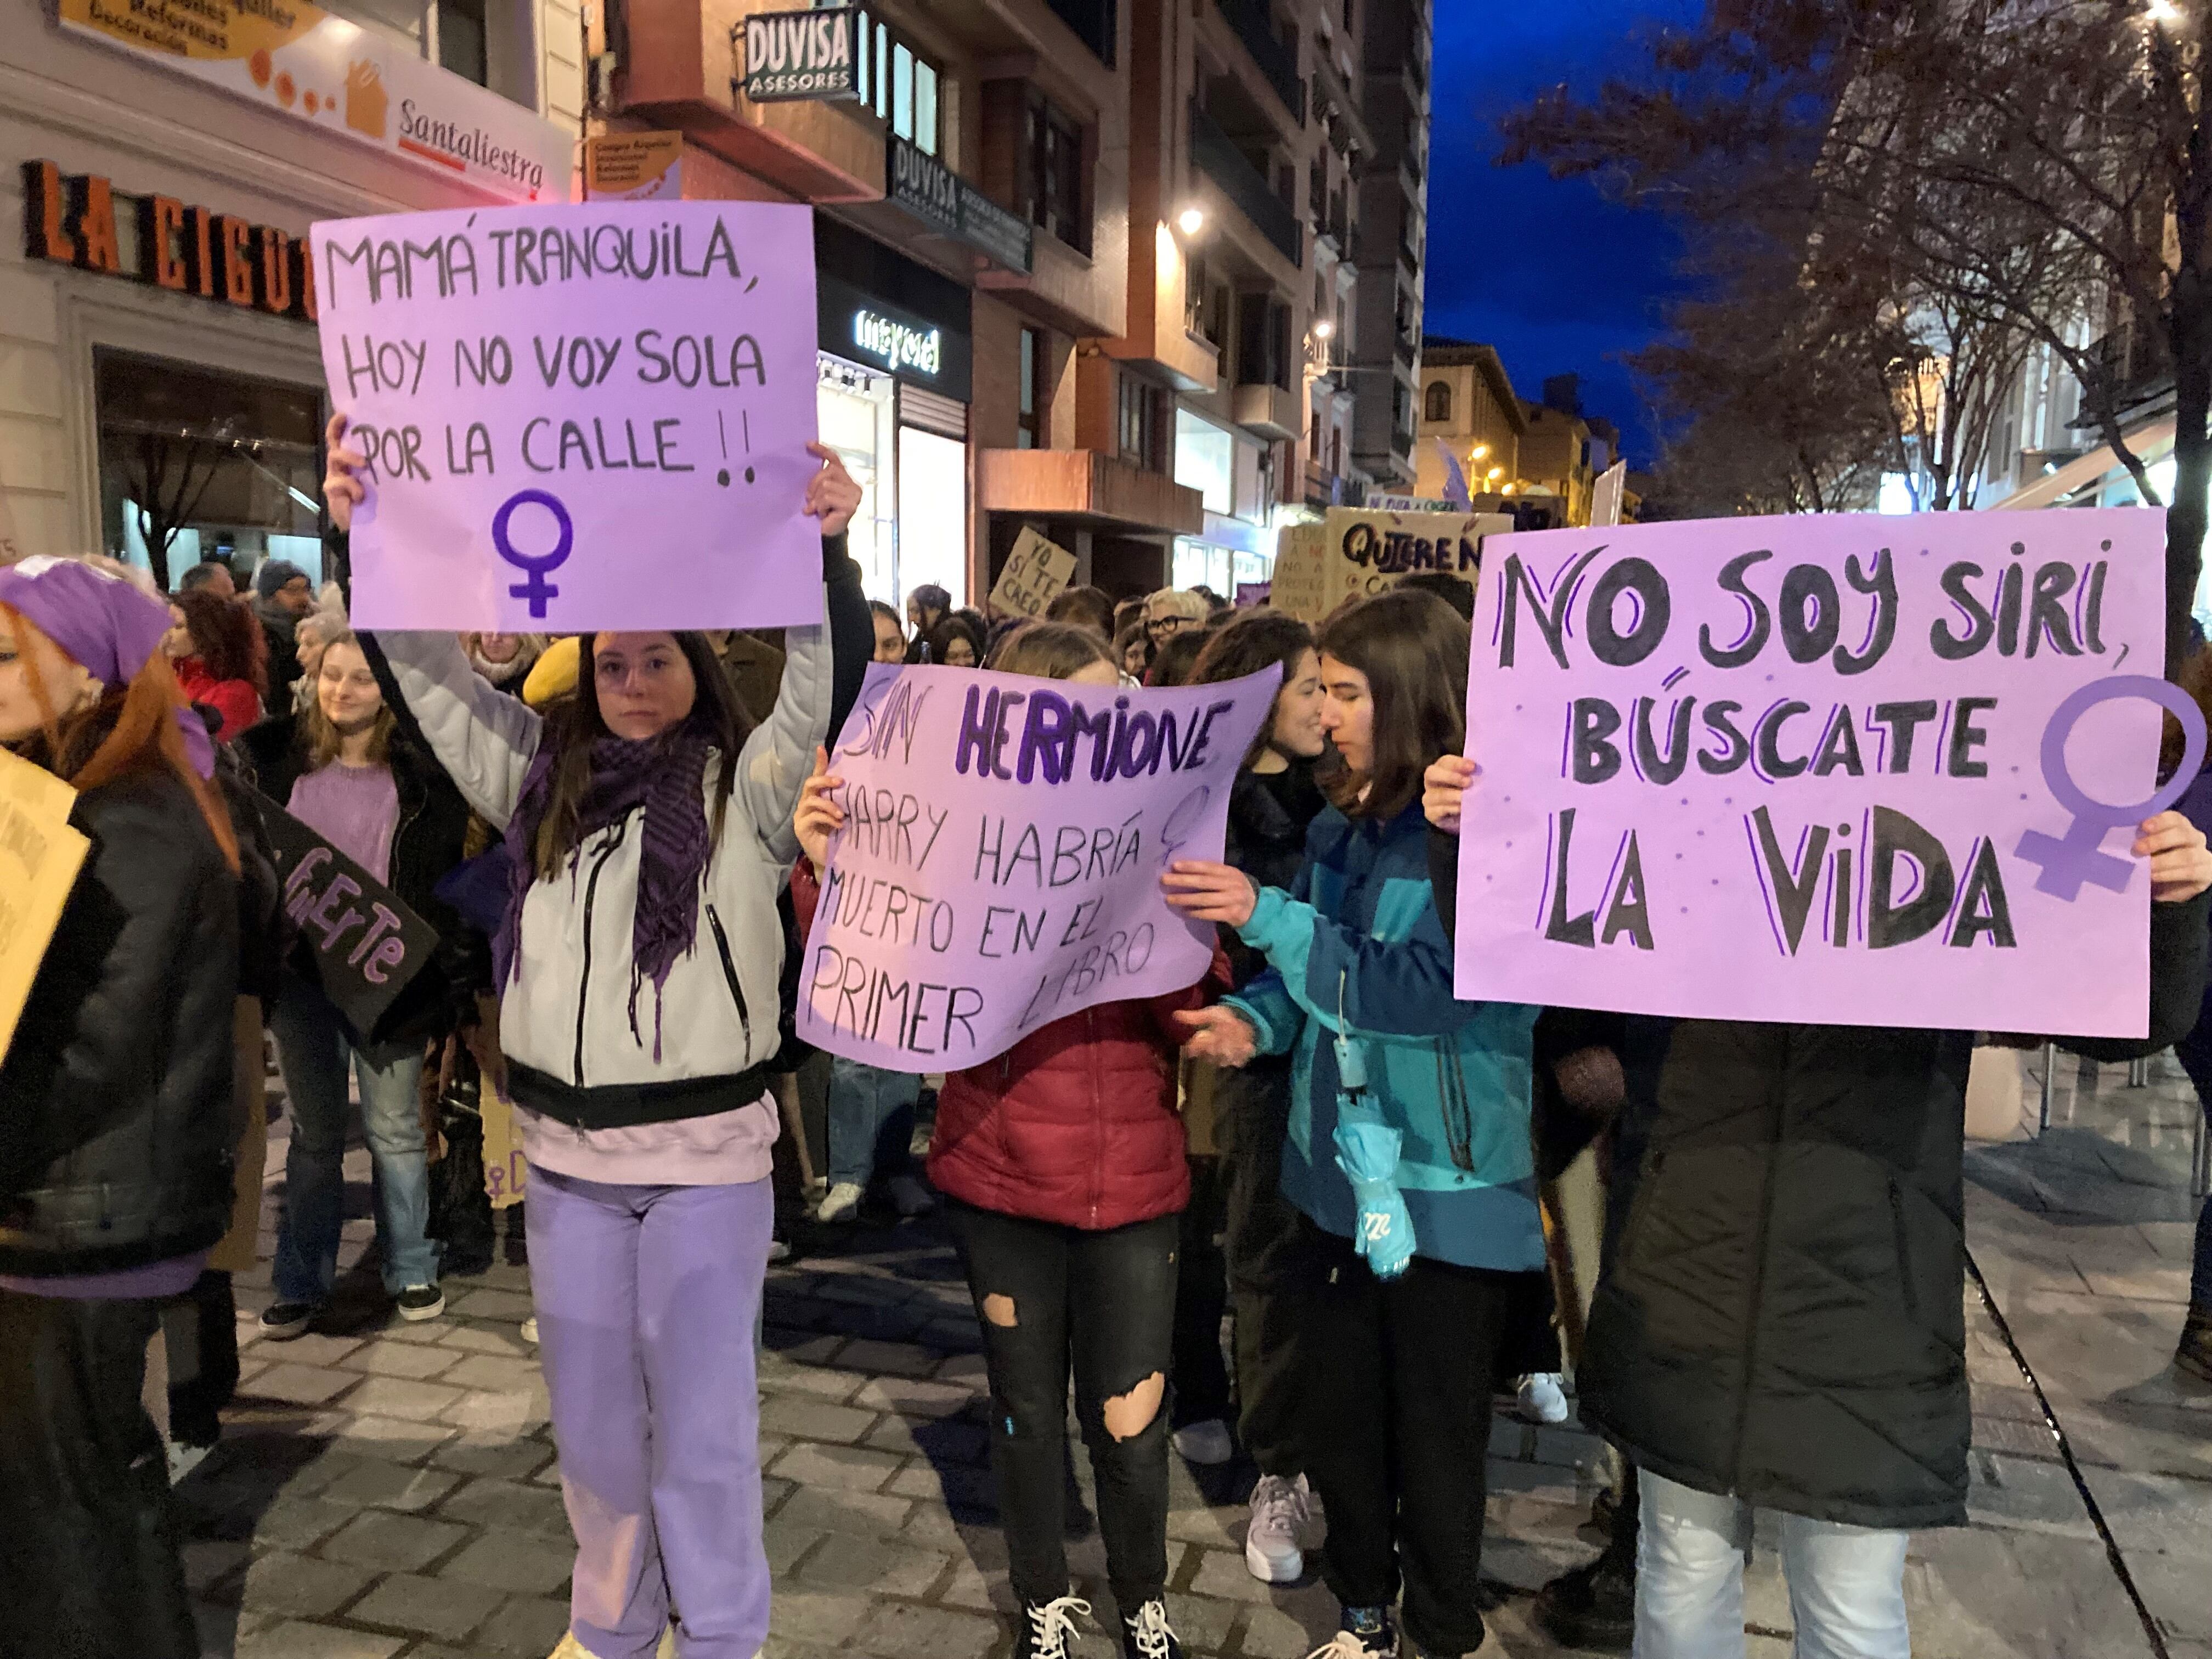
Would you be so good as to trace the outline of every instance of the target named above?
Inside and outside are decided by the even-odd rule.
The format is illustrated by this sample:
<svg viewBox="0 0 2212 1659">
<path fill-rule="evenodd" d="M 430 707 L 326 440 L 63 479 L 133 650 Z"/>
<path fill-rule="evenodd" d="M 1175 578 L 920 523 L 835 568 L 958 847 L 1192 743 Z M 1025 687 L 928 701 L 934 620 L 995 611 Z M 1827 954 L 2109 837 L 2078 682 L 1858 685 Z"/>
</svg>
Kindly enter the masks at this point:
<svg viewBox="0 0 2212 1659">
<path fill-rule="evenodd" d="M 1632 71 L 1635 35 L 1688 22 L 1701 0 L 1438 0 L 1429 173 L 1427 334 L 1498 347 L 1513 389 L 1582 374 L 1584 414 L 1621 427 L 1632 467 L 1655 456 L 1650 414 L 1619 354 L 1661 330 L 1679 292 L 1674 237 L 1588 179 L 1500 168 L 1500 113 L 1544 86 Z"/>
</svg>

